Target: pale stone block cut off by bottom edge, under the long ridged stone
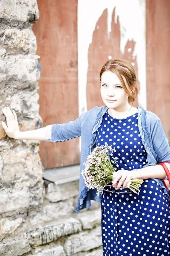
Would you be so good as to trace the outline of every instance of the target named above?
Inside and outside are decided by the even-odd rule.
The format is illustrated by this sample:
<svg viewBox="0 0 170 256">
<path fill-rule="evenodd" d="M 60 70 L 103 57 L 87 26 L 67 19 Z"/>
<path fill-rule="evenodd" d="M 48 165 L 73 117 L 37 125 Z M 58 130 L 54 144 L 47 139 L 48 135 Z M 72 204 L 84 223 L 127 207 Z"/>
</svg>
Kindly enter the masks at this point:
<svg viewBox="0 0 170 256">
<path fill-rule="evenodd" d="M 64 252 L 64 248 L 59 245 L 57 247 L 53 247 L 51 249 L 42 250 L 37 254 L 28 254 L 28 256 L 66 256 Z"/>
</svg>

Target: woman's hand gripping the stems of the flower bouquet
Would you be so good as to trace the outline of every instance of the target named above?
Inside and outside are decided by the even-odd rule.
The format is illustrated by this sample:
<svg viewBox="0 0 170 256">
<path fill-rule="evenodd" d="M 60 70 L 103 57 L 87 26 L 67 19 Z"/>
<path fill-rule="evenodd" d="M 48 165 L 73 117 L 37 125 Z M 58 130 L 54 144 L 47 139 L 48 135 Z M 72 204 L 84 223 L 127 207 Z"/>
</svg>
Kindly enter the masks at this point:
<svg viewBox="0 0 170 256">
<path fill-rule="evenodd" d="M 117 172 L 113 172 L 113 177 L 112 177 L 112 185 L 113 187 L 117 187 L 117 189 L 120 189 L 120 187 L 123 184 L 123 189 L 127 186 L 128 182 L 132 179 L 139 179 L 140 174 L 136 172 L 135 170 L 128 171 L 125 169 L 121 169 Z"/>
</svg>

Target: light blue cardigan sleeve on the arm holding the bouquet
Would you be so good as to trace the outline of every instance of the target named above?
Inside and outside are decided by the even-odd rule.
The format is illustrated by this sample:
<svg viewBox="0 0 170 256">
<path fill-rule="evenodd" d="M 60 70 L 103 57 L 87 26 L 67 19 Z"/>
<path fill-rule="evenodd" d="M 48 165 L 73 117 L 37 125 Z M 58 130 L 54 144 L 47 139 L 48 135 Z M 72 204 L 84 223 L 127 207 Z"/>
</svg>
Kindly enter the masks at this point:
<svg viewBox="0 0 170 256">
<path fill-rule="evenodd" d="M 153 149 L 157 155 L 157 163 L 170 162 L 170 145 L 158 118 L 151 133 Z"/>
</svg>

